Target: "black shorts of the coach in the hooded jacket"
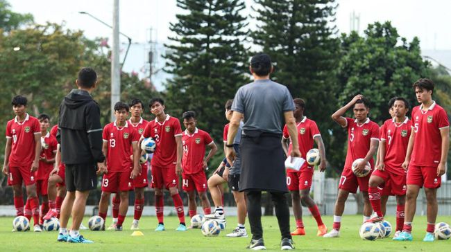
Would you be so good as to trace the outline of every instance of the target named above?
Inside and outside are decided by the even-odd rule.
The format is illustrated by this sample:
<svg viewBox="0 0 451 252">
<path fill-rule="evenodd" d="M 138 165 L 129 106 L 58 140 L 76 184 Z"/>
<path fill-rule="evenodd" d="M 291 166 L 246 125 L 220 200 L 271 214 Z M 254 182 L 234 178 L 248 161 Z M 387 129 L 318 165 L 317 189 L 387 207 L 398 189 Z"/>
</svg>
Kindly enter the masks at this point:
<svg viewBox="0 0 451 252">
<path fill-rule="evenodd" d="M 66 190 L 83 192 L 97 188 L 96 170 L 92 163 L 66 165 Z"/>
</svg>

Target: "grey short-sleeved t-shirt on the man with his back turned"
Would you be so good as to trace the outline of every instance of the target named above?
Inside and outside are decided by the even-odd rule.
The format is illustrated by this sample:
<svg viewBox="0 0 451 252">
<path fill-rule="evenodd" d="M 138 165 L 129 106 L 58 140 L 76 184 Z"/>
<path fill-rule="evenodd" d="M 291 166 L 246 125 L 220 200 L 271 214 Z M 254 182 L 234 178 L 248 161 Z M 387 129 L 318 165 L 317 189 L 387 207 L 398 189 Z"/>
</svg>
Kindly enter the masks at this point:
<svg viewBox="0 0 451 252">
<path fill-rule="evenodd" d="M 240 87 L 232 110 L 244 114 L 244 131 L 282 134 L 284 112 L 295 109 L 287 87 L 272 80 L 255 80 Z"/>
</svg>

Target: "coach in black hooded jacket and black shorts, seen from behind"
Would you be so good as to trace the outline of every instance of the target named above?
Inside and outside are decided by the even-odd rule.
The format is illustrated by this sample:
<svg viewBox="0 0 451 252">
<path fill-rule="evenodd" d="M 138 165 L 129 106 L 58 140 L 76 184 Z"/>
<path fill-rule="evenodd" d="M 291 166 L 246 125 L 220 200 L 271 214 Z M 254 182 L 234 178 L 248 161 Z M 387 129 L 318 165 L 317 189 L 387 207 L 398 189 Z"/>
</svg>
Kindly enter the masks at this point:
<svg viewBox="0 0 451 252">
<path fill-rule="evenodd" d="M 83 238 L 78 229 L 90 190 L 97 187 L 96 172 L 105 171 L 100 109 L 90 95 L 96 83 L 97 75 L 93 69 L 81 69 L 76 80 L 78 89 L 72 89 L 60 105 L 58 141 L 62 162 L 66 164 L 67 188 L 61 206 L 60 242 L 92 243 Z M 67 222 L 71 214 L 73 221 L 68 233 Z"/>
</svg>

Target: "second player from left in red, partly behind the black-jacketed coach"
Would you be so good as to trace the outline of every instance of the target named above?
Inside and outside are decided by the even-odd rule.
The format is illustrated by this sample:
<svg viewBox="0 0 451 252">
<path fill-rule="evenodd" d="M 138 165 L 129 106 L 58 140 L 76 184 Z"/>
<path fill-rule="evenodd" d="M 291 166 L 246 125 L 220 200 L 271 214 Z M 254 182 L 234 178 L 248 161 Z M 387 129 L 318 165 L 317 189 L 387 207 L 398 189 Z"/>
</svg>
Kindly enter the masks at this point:
<svg viewBox="0 0 451 252">
<path fill-rule="evenodd" d="M 41 154 L 39 159 L 39 169 L 36 172 L 36 192 L 41 195 L 41 219 L 40 223 L 44 222 L 44 215 L 49 211 L 49 197 L 47 197 L 47 188 L 49 182 L 49 175 L 53 170 L 53 163 L 55 163 L 56 147 L 58 142 L 56 137 L 52 136 L 47 129 L 50 127 L 50 117 L 46 114 L 37 116 L 37 120 L 41 125 Z"/>
</svg>

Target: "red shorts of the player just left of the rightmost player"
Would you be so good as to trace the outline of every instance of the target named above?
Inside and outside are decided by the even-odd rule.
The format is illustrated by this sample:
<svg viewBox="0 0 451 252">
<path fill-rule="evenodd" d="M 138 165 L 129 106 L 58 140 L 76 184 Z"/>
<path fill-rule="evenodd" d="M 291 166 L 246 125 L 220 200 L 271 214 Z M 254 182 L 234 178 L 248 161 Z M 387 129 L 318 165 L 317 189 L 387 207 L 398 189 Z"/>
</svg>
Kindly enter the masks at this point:
<svg viewBox="0 0 451 252">
<path fill-rule="evenodd" d="M 371 176 L 377 176 L 385 181 L 382 195 L 406 195 L 406 175 L 396 174 L 389 170 L 374 170 Z"/>
</svg>

